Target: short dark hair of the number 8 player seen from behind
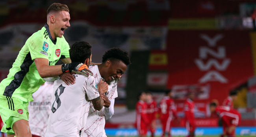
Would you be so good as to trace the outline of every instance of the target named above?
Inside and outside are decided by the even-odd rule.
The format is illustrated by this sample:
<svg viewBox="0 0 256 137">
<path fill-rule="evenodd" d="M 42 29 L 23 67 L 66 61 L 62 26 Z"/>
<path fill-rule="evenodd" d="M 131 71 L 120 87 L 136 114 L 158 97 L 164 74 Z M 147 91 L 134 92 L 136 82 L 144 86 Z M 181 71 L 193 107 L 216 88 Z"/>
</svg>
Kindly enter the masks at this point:
<svg viewBox="0 0 256 137">
<path fill-rule="evenodd" d="M 91 45 L 85 41 L 76 42 L 70 47 L 69 56 L 72 62 L 84 63 L 91 56 Z"/>
</svg>

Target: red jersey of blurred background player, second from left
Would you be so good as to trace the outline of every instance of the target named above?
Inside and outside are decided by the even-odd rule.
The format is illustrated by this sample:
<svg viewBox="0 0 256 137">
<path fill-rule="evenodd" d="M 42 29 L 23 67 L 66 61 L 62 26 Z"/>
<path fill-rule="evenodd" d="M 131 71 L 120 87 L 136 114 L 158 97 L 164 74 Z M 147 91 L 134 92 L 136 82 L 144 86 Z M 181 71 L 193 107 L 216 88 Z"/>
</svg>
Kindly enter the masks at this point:
<svg viewBox="0 0 256 137">
<path fill-rule="evenodd" d="M 156 119 L 156 112 L 158 111 L 157 103 L 153 99 L 147 102 L 147 117 L 149 121 Z"/>
</svg>

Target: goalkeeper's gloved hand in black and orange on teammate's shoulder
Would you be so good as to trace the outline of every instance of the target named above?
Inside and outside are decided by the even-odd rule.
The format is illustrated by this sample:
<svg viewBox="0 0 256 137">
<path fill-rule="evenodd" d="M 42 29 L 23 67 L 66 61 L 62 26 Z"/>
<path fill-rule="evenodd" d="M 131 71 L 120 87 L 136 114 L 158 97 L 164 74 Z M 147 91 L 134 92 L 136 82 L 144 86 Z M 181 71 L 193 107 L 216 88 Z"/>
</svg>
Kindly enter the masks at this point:
<svg viewBox="0 0 256 137">
<path fill-rule="evenodd" d="M 93 72 L 91 72 L 87 65 L 83 64 L 83 63 L 67 63 L 67 64 L 63 64 L 62 65 L 62 72 L 63 73 L 67 73 L 67 72 L 74 72 L 76 74 L 82 74 L 83 76 L 93 76 Z"/>
</svg>

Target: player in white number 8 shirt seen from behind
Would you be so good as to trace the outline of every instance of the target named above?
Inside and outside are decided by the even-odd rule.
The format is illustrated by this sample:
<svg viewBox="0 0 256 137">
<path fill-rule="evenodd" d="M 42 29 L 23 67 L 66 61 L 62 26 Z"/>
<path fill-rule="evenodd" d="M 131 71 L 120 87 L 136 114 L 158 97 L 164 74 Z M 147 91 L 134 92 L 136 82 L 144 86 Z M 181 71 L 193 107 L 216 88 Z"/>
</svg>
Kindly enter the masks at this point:
<svg viewBox="0 0 256 137">
<path fill-rule="evenodd" d="M 72 62 L 91 63 L 91 45 L 87 42 L 76 42 L 69 51 Z M 74 75 L 76 83 L 67 85 L 61 79 L 54 82 L 51 113 L 48 119 L 46 137 L 83 136 L 90 101 L 96 110 L 101 110 L 104 101 L 100 94 L 108 90 L 108 84 L 102 80 L 98 89 L 93 76 Z"/>
</svg>

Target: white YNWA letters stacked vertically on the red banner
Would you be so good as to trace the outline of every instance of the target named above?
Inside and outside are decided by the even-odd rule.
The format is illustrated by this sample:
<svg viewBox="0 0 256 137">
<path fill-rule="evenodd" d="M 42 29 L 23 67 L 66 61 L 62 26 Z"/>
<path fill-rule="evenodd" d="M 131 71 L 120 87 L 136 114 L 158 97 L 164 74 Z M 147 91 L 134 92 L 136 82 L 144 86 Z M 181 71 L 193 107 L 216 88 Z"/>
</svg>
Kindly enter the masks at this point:
<svg viewBox="0 0 256 137">
<path fill-rule="evenodd" d="M 201 71 L 206 71 L 206 74 L 199 79 L 200 83 L 206 83 L 209 81 L 219 81 L 220 83 L 227 83 L 226 79 L 219 71 L 225 71 L 230 65 L 230 59 L 226 58 L 226 49 L 223 46 L 211 49 L 211 47 L 216 47 L 217 42 L 221 40 L 224 36 L 222 34 L 217 34 L 213 38 L 210 38 L 206 34 L 200 34 L 199 36 L 203 40 L 207 41 L 209 47 L 199 48 L 199 58 L 195 59 L 195 64 Z M 211 58 L 209 58 L 209 55 Z M 203 59 L 209 58 L 206 62 Z M 219 62 L 217 59 L 223 59 Z M 211 70 L 215 68 L 215 70 Z"/>
</svg>

